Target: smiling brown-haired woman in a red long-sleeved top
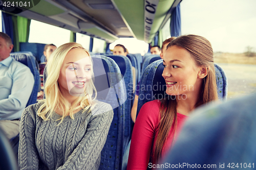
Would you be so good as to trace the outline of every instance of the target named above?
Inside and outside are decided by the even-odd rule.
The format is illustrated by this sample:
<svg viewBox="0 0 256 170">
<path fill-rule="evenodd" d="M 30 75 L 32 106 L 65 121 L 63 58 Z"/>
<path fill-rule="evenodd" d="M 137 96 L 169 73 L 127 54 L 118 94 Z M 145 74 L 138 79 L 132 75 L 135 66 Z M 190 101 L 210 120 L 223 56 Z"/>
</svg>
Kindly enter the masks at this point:
<svg viewBox="0 0 256 170">
<path fill-rule="evenodd" d="M 134 125 L 127 169 L 147 169 L 169 150 L 195 108 L 218 99 L 210 42 L 185 35 L 167 45 L 162 76 L 168 97 L 144 104 Z"/>
</svg>

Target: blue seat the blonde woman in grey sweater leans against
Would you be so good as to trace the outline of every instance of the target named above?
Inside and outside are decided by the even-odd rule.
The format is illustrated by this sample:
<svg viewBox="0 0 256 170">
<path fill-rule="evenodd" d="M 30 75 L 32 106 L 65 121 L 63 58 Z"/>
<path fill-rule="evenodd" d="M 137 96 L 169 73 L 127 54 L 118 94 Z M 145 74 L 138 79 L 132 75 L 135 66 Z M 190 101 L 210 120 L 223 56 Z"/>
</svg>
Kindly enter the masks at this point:
<svg viewBox="0 0 256 170">
<path fill-rule="evenodd" d="M 92 59 L 97 100 L 109 103 L 114 111 L 109 134 L 101 151 L 99 169 L 120 169 L 123 156 L 124 101 L 126 99 L 124 80 L 118 65 L 111 58 L 92 56 Z"/>
</svg>

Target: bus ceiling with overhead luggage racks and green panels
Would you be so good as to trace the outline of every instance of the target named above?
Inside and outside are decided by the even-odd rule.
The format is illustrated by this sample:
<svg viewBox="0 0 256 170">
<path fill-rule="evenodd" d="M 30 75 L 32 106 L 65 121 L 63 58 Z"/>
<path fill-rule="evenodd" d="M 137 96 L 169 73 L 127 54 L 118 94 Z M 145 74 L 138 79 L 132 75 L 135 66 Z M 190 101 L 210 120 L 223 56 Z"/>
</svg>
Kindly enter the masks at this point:
<svg viewBox="0 0 256 170">
<path fill-rule="evenodd" d="M 34 0 L 30 7 L 12 7 L 9 11 L 6 7 L 4 10 L 3 6 L 0 8 L 108 43 L 122 37 L 134 37 L 150 43 L 181 1 Z"/>
</svg>

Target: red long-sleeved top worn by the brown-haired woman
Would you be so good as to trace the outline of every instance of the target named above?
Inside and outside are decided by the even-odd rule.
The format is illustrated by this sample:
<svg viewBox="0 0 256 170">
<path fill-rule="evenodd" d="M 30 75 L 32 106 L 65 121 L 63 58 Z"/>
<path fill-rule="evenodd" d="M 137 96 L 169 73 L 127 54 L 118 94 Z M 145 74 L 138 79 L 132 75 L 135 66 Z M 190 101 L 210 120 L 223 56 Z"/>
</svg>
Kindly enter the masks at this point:
<svg viewBox="0 0 256 170">
<path fill-rule="evenodd" d="M 158 135 L 156 130 L 160 120 L 159 108 L 159 100 L 147 102 L 141 107 L 133 129 L 127 170 L 147 169 L 151 151 L 156 143 L 156 137 L 154 138 L 154 136 Z M 186 118 L 187 116 L 177 113 L 177 131 L 175 138 L 177 138 L 177 134 Z M 173 128 L 172 126 L 172 129 Z M 174 135 L 169 134 L 162 149 L 162 157 L 170 149 L 173 139 Z"/>
</svg>

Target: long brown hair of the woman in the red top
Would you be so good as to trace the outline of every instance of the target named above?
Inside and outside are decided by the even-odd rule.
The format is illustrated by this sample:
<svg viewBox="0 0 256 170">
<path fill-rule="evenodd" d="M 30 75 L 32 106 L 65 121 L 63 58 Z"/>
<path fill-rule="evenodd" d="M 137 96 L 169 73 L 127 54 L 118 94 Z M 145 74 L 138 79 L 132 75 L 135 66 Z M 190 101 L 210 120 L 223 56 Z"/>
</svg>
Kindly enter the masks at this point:
<svg viewBox="0 0 256 170">
<path fill-rule="evenodd" d="M 176 38 L 167 45 L 185 48 L 194 58 L 197 66 L 207 67 L 207 76 L 203 78 L 200 97 L 195 107 L 218 99 L 217 84 L 214 69 L 214 54 L 210 42 L 201 36 L 184 35 Z M 158 136 L 153 152 L 153 162 L 157 163 L 162 154 L 162 148 L 168 134 L 175 134 L 177 127 L 177 100 L 165 98 L 161 100 L 160 122 L 158 126 Z M 170 129 L 174 127 L 172 132 Z"/>
</svg>

